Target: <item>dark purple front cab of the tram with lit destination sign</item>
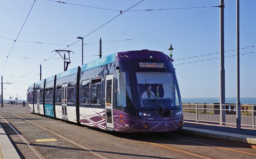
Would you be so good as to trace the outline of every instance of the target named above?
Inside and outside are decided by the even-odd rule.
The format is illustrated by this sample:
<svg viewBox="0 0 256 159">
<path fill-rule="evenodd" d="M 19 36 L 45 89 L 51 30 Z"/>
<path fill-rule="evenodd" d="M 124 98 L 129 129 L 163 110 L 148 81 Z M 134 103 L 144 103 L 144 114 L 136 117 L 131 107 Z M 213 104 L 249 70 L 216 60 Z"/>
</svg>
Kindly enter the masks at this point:
<svg viewBox="0 0 256 159">
<path fill-rule="evenodd" d="M 125 112 L 122 118 L 116 116 L 116 129 L 162 132 L 183 127 L 179 86 L 167 55 L 148 50 L 118 53 L 116 68 L 116 111 Z"/>
</svg>

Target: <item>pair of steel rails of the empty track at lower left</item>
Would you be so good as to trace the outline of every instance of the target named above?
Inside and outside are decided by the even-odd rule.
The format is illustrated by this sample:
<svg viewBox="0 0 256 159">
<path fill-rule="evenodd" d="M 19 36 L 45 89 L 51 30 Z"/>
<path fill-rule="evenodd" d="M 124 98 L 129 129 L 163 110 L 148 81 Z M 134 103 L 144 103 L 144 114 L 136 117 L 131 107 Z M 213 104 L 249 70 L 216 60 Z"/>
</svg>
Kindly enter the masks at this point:
<svg viewBox="0 0 256 159">
<path fill-rule="evenodd" d="M 23 117 L 20 117 L 20 116 L 18 116 L 18 115 L 15 115 L 15 114 L 13 114 L 12 112 L 9 112 L 9 111 L 7 111 L 7 110 L 5 110 L 5 109 L 2 109 L 2 110 L 6 111 L 6 112 L 8 112 L 8 113 L 10 113 L 10 114 L 12 114 L 13 116 L 19 117 L 19 118 L 23 119 L 24 121 L 27 121 L 27 122 L 29 122 L 29 123 L 31 123 L 31 124 L 33 124 L 33 125 L 36 125 L 37 127 L 40 127 L 40 128 L 42 128 L 42 129 L 48 131 L 49 133 L 51 133 L 51 134 L 53 134 L 53 135 L 55 135 L 55 136 L 57 136 L 57 137 L 59 137 L 59 138 L 62 138 L 62 139 L 64 139 L 64 140 L 66 140 L 66 141 L 68 141 L 69 143 L 72 143 L 73 145 L 75 145 L 75 146 L 77 146 L 77 147 L 79 147 L 79 148 L 82 148 L 82 149 L 84 149 L 85 151 L 88 151 L 89 153 L 95 155 L 96 157 L 98 157 L 98 158 L 100 158 L 100 159 L 105 159 L 104 157 L 100 156 L 100 155 L 97 154 L 96 152 L 93 152 L 92 150 L 90 150 L 90 149 L 88 149 L 88 148 L 86 148 L 86 147 L 84 147 L 84 146 L 82 146 L 82 145 L 80 145 L 80 144 L 78 144 L 78 143 L 72 141 L 72 140 L 69 139 L 69 138 L 65 138 L 65 137 L 61 136 L 60 134 L 57 134 L 57 133 L 55 133 L 55 132 L 53 132 L 53 131 L 51 131 L 51 130 L 45 128 L 45 127 L 39 126 L 39 125 L 37 125 L 36 123 L 33 123 L 33 122 L 31 122 L 31 121 L 29 121 L 29 120 L 23 118 Z M 0 117 L 17 133 L 17 135 L 19 135 L 20 138 L 22 138 L 22 140 L 28 145 L 28 147 L 35 153 L 35 155 L 36 155 L 39 159 L 45 159 L 45 158 L 37 151 L 37 149 L 36 149 L 35 147 L 33 147 L 33 146 L 32 146 L 15 128 L 14 128 L 14 127 L 12 127 L 11 124 L 9 124 L 9 122 L 8 122 L 4 117 L 2 117 L 1 115 L 0 115 Z"/>
</svg>

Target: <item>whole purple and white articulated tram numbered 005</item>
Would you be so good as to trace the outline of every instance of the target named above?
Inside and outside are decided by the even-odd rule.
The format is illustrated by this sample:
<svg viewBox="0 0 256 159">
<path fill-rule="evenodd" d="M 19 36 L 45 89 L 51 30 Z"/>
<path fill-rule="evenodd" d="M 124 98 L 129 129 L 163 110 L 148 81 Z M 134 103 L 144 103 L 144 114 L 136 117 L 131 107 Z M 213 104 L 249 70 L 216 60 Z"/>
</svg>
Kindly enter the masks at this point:
<svg viewBox="0 0 256 159">
<path fill-rule="evenodd" d="M 29 85 L 27 101 L 30 112 L 110 131 L 165 132 L 184 124 L 175 69 L 157 51 L 113 53 L 41 80 Z"/>
</svg>

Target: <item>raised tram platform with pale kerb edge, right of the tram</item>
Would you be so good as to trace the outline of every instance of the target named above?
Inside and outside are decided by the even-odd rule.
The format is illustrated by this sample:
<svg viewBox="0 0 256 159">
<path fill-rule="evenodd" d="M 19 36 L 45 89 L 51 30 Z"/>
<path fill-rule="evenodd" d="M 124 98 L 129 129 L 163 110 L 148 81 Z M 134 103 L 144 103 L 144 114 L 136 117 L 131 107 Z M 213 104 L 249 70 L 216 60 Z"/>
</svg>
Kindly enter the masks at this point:
<svg viewBox="0 0 256 159">
<path fill-rule="evenodd" d="M 184 122 L 183 133 L 256 145 L 256 129 L 218 124 Z"/>
</svg>

